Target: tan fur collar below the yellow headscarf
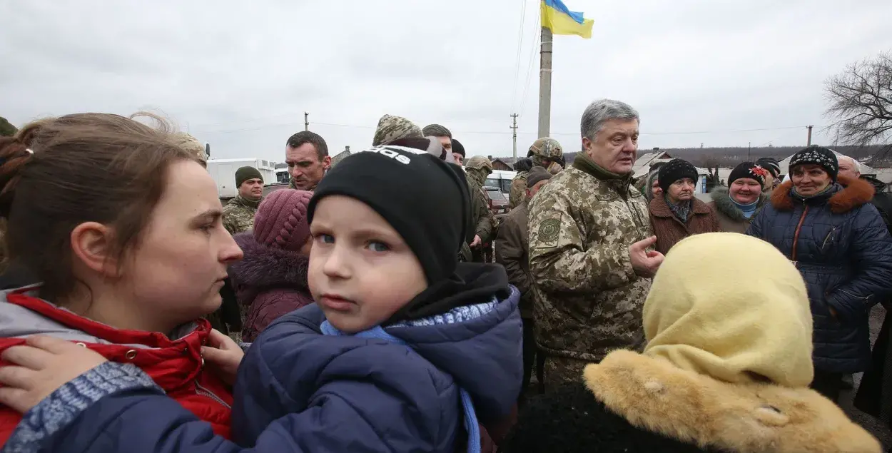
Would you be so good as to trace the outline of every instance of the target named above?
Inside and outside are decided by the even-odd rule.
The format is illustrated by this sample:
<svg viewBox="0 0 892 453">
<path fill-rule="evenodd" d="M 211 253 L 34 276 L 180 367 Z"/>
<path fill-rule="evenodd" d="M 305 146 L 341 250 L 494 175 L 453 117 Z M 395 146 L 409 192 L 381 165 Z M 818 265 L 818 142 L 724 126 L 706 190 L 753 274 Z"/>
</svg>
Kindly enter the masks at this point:
<svg viewBox="0 0 892 453">
<path fill-rule="evenodd" d="M 600 364 L 585 367 L 584 376 L 595 397 L 630 424 L 700 448 L 880 452 L 880 443 L 861 426 L 806 388 L 723 383 L 628 350 L 616 350 Z"/>
</svg>

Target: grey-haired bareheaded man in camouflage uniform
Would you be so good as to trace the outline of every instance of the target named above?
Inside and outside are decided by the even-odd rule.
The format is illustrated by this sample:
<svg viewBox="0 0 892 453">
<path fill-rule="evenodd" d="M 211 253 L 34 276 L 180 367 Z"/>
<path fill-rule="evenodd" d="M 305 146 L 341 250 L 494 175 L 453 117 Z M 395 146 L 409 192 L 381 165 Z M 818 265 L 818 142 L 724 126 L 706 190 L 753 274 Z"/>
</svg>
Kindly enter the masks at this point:
<svg viewBox="0 0 892 453">
<path fill-rule="evenodd" d="M 632 186 L 637 112 L 599 101 L 582 125 L 583 152 L 529 205 L 533 316 L 549 388 L 580 381 L 610 350 L 643 345 L 641 309 L 662 262 L 647 251 L 656 237 Z"/>
</svg>

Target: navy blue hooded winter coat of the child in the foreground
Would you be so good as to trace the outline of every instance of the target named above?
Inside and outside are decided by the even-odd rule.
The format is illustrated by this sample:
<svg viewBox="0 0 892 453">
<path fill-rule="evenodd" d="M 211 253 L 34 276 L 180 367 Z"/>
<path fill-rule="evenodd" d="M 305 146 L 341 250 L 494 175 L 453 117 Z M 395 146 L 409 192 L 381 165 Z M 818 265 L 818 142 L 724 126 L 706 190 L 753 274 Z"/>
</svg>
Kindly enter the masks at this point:
<svg viewBox="0 0 892 453">
<path fill-rule="evenodd" d="M 453 453 L 467 442 L 459 388 L 484 424 L 507 416 L 520 391 L 519 292 L 509 288 L 503 300 L 384 328 L 410 347 L 321 334 L 315 304 L 277 319 L 239 368 L 233 441 L 135 367 L 105 363 L 32 408 L 4 452 Z"/>
</svg>

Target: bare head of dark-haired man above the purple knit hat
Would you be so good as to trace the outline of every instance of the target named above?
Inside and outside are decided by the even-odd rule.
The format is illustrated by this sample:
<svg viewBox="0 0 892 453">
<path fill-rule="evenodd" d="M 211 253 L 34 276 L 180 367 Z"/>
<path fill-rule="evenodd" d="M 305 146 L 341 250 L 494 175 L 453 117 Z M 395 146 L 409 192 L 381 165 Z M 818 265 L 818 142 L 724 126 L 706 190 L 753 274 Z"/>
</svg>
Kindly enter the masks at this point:
<svg viewBox="0 0 892 453">
<path fill-rule="evenodd" d="M 332 158 L 328 155 L 325 139 L 305 130 L 288 138 L 285 143 L 285 163 L 291 174 L 290 187 L 313 191 L 331 168 Z"/>
</svg>

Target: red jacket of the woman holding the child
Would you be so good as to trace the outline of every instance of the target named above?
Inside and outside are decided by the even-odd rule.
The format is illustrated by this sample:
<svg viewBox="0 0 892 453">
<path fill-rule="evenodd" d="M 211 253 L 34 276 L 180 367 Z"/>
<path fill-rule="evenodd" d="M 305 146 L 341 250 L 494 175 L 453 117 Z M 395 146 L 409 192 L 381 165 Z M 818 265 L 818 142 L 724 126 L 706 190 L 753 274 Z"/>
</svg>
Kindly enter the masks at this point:
<svg viewBox="0 0 892 453">
<path fill-rule="evenodd" d="M 46 301 L 26 295 L 25 292 L 28 290 L 29 288 L 22 288 L 9 293 L 7 302 L 29 309 L 39 316 L 86 335 L 112 343 L 78 344 L 95 350 L 113 362 L 132 363 L 142 368 L 170 398 L 176 399 L 195 416 L 210 423 L 214 432 L 229 438 L 232 391 L 216 375 L 202 372 L 201 347 L 207 342 L 208 334 L 211 332 L 211 324 L 208 321 L 200 319 L 190 334 L 178 340 L 169 340 L 164 334 L 119 330 L 86 317 L 79 317 L 68 310 L 59 309 Z M 0 335 L 2 334 L 0 332 Z M 0 338 L 0 352 L 24 342 L 21 338 Z M 0 367 L 6 365 L 9 363 L 0 361 Z M 0 445 L 9 439 L 19 420 L 21 415 L 18 412 L 0 405 Z"/>
</svg>

